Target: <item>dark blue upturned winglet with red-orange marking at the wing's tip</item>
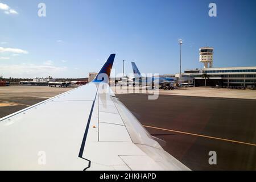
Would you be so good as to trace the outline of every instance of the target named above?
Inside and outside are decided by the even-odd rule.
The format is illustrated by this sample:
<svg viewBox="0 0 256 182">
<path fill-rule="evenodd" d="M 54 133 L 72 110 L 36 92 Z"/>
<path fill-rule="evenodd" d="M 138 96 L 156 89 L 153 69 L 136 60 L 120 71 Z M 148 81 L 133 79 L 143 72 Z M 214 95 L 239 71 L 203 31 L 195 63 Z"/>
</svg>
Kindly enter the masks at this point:
<svg viewBox="0 0 256 182">
<path fill-rule="evenodd" d="M 109 76 L 110 76 L 110 72 L 112 69 L 112 65 L 114 63 L 114 59 L 115 59 L 115 53 L 113 53 L 109 56 L 108 60 L 106 60 L 106 63 L 103 65 L 100 72 L 98 72 L 98 74 L 94 78 L 93 82 L 102 82 L 102 81 L 108 82 L 109 81 Z M 108 80 L 104 79 L 106 76 L 108 76 Z"/>
</svg>

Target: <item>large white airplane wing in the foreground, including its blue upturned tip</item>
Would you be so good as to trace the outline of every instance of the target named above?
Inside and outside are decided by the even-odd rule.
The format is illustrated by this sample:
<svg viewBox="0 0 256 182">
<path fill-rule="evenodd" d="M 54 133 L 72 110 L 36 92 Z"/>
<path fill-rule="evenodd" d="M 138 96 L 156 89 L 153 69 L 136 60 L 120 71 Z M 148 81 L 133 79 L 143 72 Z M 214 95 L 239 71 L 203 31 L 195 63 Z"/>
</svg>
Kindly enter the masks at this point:
<svg viewBox="0 0 256 182">
<path fill-rule="evenodd" d="M 1 170 L 189 170 L 115 97 L 114 54 L 94 81 L 0 119 Z"/>
</svg>

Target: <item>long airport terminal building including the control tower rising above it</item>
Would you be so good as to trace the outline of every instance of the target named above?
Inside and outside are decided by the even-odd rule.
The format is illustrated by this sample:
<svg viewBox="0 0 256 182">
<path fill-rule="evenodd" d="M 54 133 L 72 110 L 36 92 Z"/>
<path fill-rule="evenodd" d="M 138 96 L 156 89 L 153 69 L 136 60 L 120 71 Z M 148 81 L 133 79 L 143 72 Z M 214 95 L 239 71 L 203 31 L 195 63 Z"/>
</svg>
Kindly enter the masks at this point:
<svg viewBox="0 0 256 182">
<path fill-rule="evenodd" d="M 180 80 L 186 80 L 195 86 L 256 86 L 256 67 L 213 67 L 213 48 L 199 49 L 199 61 L 204 64 L 203 69 L 185 70 Z M 207 75 L 207 77 L 205 77 Z M 204 76 L 204 77 L 203 77 Z"/>
</svg>

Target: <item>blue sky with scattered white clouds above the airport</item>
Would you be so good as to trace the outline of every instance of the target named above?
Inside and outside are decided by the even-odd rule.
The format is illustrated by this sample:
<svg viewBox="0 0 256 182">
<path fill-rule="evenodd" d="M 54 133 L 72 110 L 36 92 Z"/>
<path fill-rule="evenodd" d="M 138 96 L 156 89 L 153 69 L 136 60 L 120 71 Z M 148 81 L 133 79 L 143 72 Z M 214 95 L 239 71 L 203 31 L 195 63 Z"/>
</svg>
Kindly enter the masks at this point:
<svg viewBox="0 0 256 182">
<path fill-rule="evenodd" d="M 45 3 L 46 16 L 38 16 Z M 210 17 L 209 3 L 217 6 Z M 203 68 L 199 48 L 214 48 L 213 67 L 256 66 L 256 1 L 0 0 L 0 76 L 88 77 L 116 53 L 114 73 Z"/>
</svg>

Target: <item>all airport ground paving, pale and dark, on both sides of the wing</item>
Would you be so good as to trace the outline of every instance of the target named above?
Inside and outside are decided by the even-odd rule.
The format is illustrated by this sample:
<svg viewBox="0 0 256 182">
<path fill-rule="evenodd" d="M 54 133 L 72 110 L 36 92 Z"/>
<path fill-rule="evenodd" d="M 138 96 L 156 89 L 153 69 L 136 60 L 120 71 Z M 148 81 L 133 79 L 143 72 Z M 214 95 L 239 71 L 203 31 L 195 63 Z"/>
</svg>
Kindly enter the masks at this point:
<svg viewBox="0 0 256 182">
<path fill-rule="evenodd" d="M 0 87 L 0 118 L 71 89 Z M 256 170 L 256 90 L 160 90 L 157 100 L 139 93 L 116 96 L 151 135 L 166 141 L 164 150 L 192 170 Z M 209 164 L 210 151 L 216 151 L 217 164 Z"/>
</svg>

